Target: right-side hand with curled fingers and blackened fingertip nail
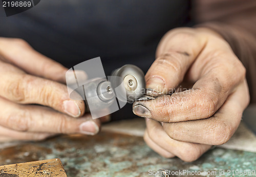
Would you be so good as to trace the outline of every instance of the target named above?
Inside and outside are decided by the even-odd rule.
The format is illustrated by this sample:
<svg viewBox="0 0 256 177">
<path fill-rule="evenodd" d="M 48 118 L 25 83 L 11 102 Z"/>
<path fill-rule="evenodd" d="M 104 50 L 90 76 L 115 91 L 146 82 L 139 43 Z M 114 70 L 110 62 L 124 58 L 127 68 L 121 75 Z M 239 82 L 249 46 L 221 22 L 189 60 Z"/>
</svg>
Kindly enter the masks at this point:
<svg viewBox="0 0 256 177">
<path fill-rule="evenodd" d="M 219 34 L 204 28 L 169 31 L 156 56 L 145 76 L 156 99 L 135 102 L 133 111 L 146 117 L 144 140 L 153 150 L 194 161 L 237 130 L 249 103 L 245 68 Z M 177 90 L 180 84 L 193 87 Z"/>
</svg>

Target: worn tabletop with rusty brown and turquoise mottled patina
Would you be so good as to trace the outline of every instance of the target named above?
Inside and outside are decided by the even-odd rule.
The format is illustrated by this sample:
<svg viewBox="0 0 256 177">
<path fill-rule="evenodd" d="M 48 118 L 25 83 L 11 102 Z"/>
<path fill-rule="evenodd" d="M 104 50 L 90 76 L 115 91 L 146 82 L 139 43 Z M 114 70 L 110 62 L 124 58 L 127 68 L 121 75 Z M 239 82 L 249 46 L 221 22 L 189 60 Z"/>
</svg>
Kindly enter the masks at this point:
<svg viewBox="0 0 256 177">
<path fill-rule="evenodd" d="M 68 176 L 149 176 L 149 170 L 201 171 L 197 176 L 221 176 L 220 170 L 255 170 L 256 153 L 215 148 L 199 160 L 186 163 L 157 155 L 141 137 L 116 133 L 96 136 L 59 136 L 2 148 L 0 164 L 59 158 Z M 207 175 L 204 171 L 216 171 Z M 151 172 L 151 171 L 150 171 Z M 153 176 L 153 175 L 151 175 Z M 180 176 L 179 174 L 174 176 Z M 186 176 L 186 175 L 185 175 Z"/>
</svg>

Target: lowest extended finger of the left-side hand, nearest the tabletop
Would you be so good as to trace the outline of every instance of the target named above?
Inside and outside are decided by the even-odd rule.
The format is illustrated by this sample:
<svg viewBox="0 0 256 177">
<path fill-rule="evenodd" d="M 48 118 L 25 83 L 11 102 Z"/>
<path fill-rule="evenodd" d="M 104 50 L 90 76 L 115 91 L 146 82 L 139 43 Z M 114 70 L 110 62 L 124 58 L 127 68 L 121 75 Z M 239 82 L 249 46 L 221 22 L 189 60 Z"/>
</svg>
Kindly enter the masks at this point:
<svg viewBox="0 0 256 177">
<path fill-rule="evenodd" d="M 95 135 L 99 132 L 100 121 L 92 119 L 90 114 L 72 118 L 51 108 L 37 105 L 18 105 L 7 100 L 0 100 L 0 124 L 6 128 L 37 133 L 81 133 Z"/>
</svg>

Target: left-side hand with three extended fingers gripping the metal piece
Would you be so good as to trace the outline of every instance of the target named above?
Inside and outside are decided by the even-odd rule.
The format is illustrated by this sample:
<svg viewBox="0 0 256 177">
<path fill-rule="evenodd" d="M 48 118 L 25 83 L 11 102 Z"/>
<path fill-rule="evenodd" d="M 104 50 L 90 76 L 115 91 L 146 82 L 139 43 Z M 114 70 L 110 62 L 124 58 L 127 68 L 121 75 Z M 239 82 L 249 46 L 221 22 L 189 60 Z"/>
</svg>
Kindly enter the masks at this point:
<svg viewBox="0 0 256 177">
<path fill-rule="evenodd" d="M 100 120 L 69 97 L 67 70 L 22 39 L 0 38 L 0 141 L 98 133 Z"/>
</svg>

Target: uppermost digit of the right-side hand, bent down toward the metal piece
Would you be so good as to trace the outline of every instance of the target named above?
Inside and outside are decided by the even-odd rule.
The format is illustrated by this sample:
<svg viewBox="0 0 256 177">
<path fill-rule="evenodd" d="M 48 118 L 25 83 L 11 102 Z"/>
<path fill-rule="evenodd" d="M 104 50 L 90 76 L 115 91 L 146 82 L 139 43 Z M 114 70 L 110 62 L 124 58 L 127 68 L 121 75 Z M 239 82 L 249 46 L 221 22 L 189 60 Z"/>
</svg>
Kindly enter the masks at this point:
<svg viewBox="0 0 256 177">
<path fill-rule="evenodd" d="M 188 28 L 172 30 L 163 39 L 157 49 L 157 59 L 145 75 L 146 88 L 159 95 L 172 92 L 178 86 L 206 43 L 204 37 Z"/>
</svg>

